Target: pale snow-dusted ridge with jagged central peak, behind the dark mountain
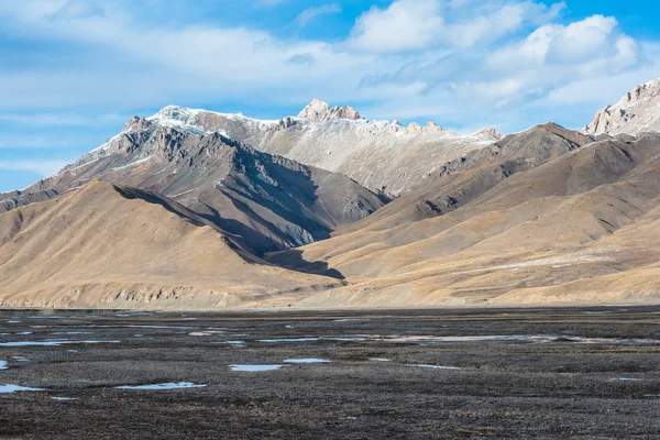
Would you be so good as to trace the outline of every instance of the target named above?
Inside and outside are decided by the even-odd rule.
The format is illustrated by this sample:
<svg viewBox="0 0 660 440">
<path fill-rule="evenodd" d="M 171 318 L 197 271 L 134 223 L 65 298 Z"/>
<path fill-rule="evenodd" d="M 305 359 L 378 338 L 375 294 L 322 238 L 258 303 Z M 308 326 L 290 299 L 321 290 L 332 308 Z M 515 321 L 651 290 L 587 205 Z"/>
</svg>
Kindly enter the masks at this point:
<svg viewBox="0 0 660 440">
<path fill-rule="evenodd" d="M 277 121 L 174 106 L 147 119 L 163 125 L 224 133 L 258 151 L 346 175 L 391 196 L 421 184 L 447 161 L 502 139 L 493 129 L 461 136 L 432 122 L 403 127 L 396 121 L 369 121 L 350 107 L 331 108 L 319 100 L 297 117 Z"/>
</svg>

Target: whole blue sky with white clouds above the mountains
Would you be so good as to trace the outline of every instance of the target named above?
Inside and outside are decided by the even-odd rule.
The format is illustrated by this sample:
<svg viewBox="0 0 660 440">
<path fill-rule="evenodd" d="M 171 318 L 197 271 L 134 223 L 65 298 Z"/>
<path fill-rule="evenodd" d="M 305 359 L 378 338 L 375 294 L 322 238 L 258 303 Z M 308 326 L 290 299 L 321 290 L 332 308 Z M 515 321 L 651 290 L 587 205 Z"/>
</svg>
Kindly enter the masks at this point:
<svg viewBox="0 0 660 440">
<path fill-rule="evenodd" d="M 0 191 L 170 103 L 579 128 L 660 76 L 658 16 L 648 0 L 0 0 Z"/>
</svg>

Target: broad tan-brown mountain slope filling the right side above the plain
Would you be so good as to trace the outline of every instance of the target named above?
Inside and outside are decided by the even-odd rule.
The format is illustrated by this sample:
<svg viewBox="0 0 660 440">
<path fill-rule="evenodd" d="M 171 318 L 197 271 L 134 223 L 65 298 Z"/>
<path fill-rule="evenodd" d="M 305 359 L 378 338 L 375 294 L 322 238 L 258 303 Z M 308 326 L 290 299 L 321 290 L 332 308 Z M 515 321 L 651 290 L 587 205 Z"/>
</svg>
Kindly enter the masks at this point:
<svg viewBox="0 0 660 440">
<path fill-rule="evenodd" d="M 660 134 L 507 136 L 330 240 L 273 255 L 340 272 L 307 306 L 660 299 Z"/>
</svg>

